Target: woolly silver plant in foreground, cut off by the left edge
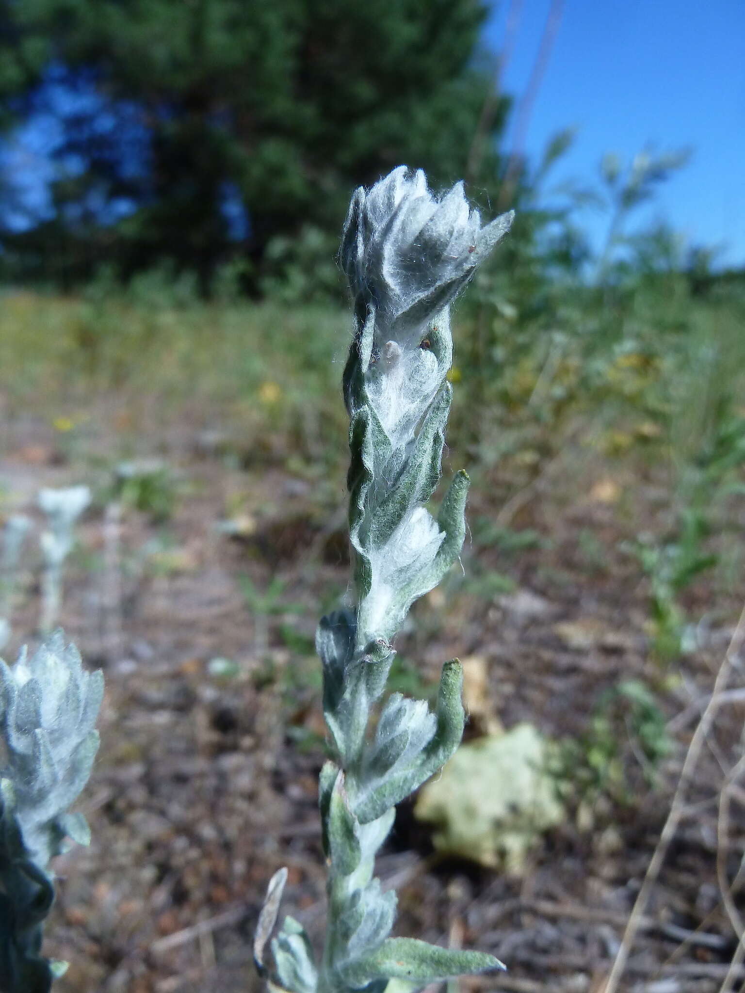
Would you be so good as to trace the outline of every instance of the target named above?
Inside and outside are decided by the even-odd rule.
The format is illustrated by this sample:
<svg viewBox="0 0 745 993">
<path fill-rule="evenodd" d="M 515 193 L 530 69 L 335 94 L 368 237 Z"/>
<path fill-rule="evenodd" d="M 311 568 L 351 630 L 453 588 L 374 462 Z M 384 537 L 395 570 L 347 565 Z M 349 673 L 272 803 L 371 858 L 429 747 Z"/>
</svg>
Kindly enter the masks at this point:
<svg viewBox="0 0 745 993">
<path fill-rule="evenodd" d="M 83 671 L 57 632 L 12 667 L 0 659 L 0 989 L 46 993 L 63 963 L 40 955 L 42 923 L 54 900 L 50 859 L 68 838 L 88 844 L 70 813 L 98 749 L 94 723 L 103 677 Z"/>
</svg>

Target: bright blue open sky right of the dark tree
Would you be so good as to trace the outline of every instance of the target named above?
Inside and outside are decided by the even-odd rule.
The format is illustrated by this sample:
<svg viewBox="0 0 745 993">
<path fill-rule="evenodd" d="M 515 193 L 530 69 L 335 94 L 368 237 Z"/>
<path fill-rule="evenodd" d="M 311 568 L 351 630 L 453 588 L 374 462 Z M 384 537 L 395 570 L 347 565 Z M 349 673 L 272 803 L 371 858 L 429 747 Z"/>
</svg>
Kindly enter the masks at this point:
<svg viewBox="0 0 745 993">
<path fill-rule="evenodd" d="M 485 40 L 498 51 L 511 9 L 517 14 L 508 93 L 525 89 L 550 6 L 494 6 Z M 719 264 L 745 264 L 744 0 L 564 0 L 529 118 L 528 156 L 572 125 L 575 143 L 556 181 L 597 175 L 605 152 L 628 160 L 645 146 L 689 147 L 689 163 L 639 221 L 666 218 L 690 244 L 723 246 Z M 599 238 L 603 218 L 588 212 L 585 219 Z"/>
</svg>

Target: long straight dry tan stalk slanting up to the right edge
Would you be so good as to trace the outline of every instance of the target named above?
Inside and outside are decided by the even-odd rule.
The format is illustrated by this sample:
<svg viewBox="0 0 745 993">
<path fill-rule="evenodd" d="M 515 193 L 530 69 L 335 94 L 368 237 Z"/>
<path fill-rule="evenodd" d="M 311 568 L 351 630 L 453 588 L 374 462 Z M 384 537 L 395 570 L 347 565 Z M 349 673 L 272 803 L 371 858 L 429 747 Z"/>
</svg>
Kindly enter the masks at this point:
<svg viewBox="0 0 745 993">
<path fill-rule="evenodd" d="M 675 792 L 672 796 L 668 819 L 665 822 L 665 826 L 663 827 L 663 831 L 660 835 L 660 840 L 657 843 L 655 852 L 649 866 L 647 867 L 644 883 L 642 884 L 642 888 L 639 891 L 639 895 L 637 896 L 631 915 L 629 916 L 629 921 L 626 924 L 626 930 L 624 931 L 623 938 L 621 939 L 621 945 L 619 946 L 613 967 L 611 968 L 608 976 L 608 981 L 605 984 L 604 993 L 616 993 L 619 983 L 621 982 L 621 978 L 626 970 L 629 955 L 631 954 L 631 949 L 634 945 L 634 940 L 637 936 L 642 919 L 647 911 L 647 905 L 649 904 L 650 897 L 652 896 L 652 891 L 657 884 L 658 877 L 660 876 L 660 870 L 663 867 L 663 863 L 665 862 L 665 858 L 668 854 L 668 849 L 670 848 L 671 841 L 675 835 L 675 831 L 677 830 L 677 826 L 685 808 L 685 794 L 688 783 L 692 779 L 693 773 L 698 764 L 701 749 L 711 730 L 714 717 L 721 706 L 721 694 L 726 688 L 733 666 L 733 659 L 739 655 L 744 640 L 745 606 L 742 609 L 734 635 L 732 636 L 732 640 L 729 643 L 729 647 L 725 652 L 722 664 L 716 675 L 711 697 L 706 704 L 703 713 L 701 714 L 701 718 L 696 725 L 695 731 L 693 732 L 693 737 L 690 740 L 690 745 L 688 746 L 688 750 L 685 754 L 685 760 L 683 761 L 682 770 L 680 771 L 680 777 L 677 780 L 677 786 L 675 787 Z M 742 947 L 742 942 L 738 946 L 738 950 L 739 947 Z M 739 964 L 740 963 L 738 961 L 735 974 L 739 974 Z M 730 968 L 730 972 L 732 972 L 732 968 Z M 725 979 L 725 983 L 726 982 L 727 979 Z"/>
</svg>

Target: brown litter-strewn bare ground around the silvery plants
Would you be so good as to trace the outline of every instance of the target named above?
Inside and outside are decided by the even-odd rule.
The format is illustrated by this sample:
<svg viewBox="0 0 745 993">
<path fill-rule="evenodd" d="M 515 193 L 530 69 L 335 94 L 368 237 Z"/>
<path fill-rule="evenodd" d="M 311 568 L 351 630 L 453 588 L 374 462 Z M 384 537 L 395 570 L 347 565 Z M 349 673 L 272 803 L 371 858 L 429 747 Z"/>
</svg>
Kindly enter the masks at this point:
<svg viewBox="0 0 745 993">
<path fill-rule="evenodd" d="M 115 448 L 112 432 L 101 420 L 85 462 L 66 459 L 41 421 L 9 424 L 0 453 L 8 505 L 28 509 L 40 486 L 85 478 L 96 451 Z M 103 668 L 106 695 L 101 750 L 80 803 L 92 844 L 56 867 L 59 899 L 45 950 L 71 961 L 61 993 L 258 990 L 252 927 L 266 882 L 282 865 L 290 870 L 284 910 L 317 942 L 323 933 L 316 808 L 323 721 L 317 666 L 304 645 L 347 583 L 342 477 L 241 468 L 185 426 L 154 427 L 153 452 L 186 481 L 173 518 L 156 524 L 125 508 L 116 528 L 101 505 L 92 508 L 66 590 L 66 633 L 89 665 Z M 506 556 L 468 546 L 467 574 L 499 569 L 515 592 L 475 594 L 449 584 L 416 608 L 416 626 L 397 645 L 401 655 L 429 684 L 446 658 L 483 658 L 486 712 L 507 728 L 529 720 L 556 737 L 581 734 L 620 675 L 644 677 L 657 687 L 675 747 L 656 788 L 637 776 L 628 803 L 600 803 L 590 826 L 570 819 L 546 836 L 523 878 L 438 856 L 411 804 L 398 812 L 379 873 L 399 893 L 399 933 L 479 947 L 508 963 L 504 977 L 465 980 L 464 990 L 601 993 L 742 590 L 714 594 L 702 580 L 690 591 L 691 613 L 710 612 L 710 621 L 699 648 L 663 673 L 649 659 L 644 578 L 619 550 L 640 515 L 654 523 L 664 512 L 654 473 L 635 487 L 626 511 L 592 497 L 592 470 L 570 461 L 550 486 L 538 481 L 518 499 L 516 492 L 499 473 L 475 473 L 471 520 L 497 518 L 513 498 L 504 522 L 534 528 L 550 547 Z M 247 521 L 241 538 L 216 527 L 226 512 Z M 167 542 L 147 552 L 158 535 Z M 250 609 L 241 576 L 259 590 L 275 577 L 284 582 L 273 613 Z M 31 570 L 14 649 L 22 637 L 35 638 L 37 583 Z M 237 662 L 238 674 L 211 674 L 218 656 Z M 731 880 L 745 822 L 735 798 L 728 838 L 717 839 L 717 797 L 737 757 L 741 707 L 722 709 L 689 785 L 624 990 L 722 987 L 737 938 L 722 909 L 717 851 Z M 473 720 L 468 735 L 481 730 Z M 735 974 L 735 989 L 743 975 Z"/>
</svg>

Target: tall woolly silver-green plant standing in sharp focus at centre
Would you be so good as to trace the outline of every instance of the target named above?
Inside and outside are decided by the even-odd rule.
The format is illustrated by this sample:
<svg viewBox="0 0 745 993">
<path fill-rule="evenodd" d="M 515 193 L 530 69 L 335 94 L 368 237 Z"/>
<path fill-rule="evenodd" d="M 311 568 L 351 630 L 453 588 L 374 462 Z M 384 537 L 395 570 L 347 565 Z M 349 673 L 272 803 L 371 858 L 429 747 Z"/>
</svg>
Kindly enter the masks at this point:
<svg viewBox="0 0 745 993">
<path fill-rule="evenodd" d="M 395 654 L 392 639 L 463 545 L 466 474 L 456 474 L 436 520 L 424 506 L 440 479 L 452 394 L 449 310 L 512 219 L 503 214 L 482 227 L 462 184 L 436 199 L 421 171 L 411 176 L 400 167 L 355 193 L 345 224 L 341 261 L 356 326 L 344 373 L 354 605 L 323 618 L 316 636 L 334 757 L 320 784 L 329 916 L 318 961 L 292 918 L 271 942 L 271 980 L 291 993 L 382 993 L 391 979 L 416 988 L 502 967 L 482 952 L 389 937 L 395 893 L 382 892 L 373 877 L 395 804 L 460 744 L 460 663 L 443 667 L 434 713 L 424 701 L 393 693 L 372 734 L 368 728 Z M 257 928 L 262 974 L 269 972 L 264 947 L 285 879 L 286 870 L 272 879 Z"/>
</svg>

